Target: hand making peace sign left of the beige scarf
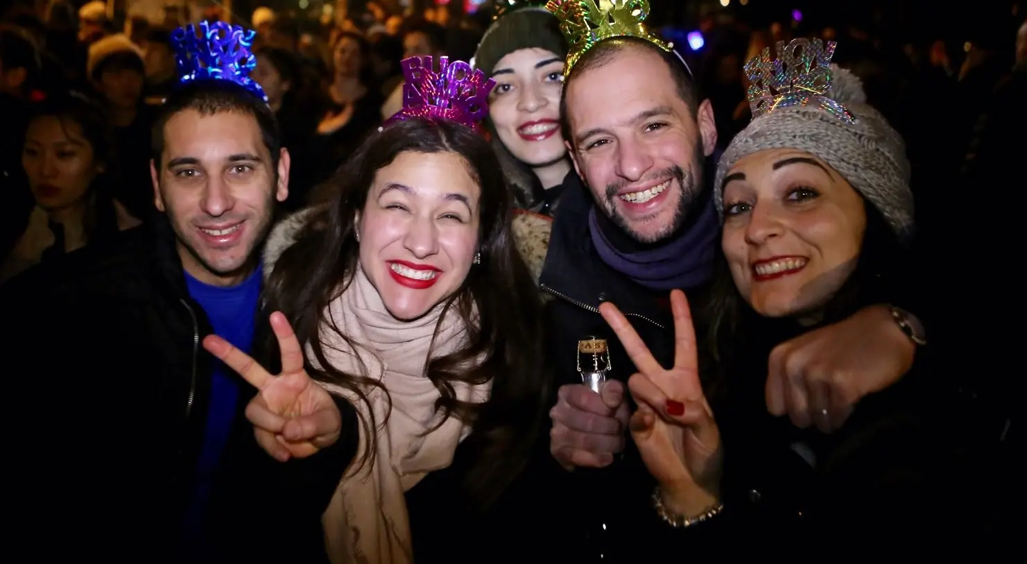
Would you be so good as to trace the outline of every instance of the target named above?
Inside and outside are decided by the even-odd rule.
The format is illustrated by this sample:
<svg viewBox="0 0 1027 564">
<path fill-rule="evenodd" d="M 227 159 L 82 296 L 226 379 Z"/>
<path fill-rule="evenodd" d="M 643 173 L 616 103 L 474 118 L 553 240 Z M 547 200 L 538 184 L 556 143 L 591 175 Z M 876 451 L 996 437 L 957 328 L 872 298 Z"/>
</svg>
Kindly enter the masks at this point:
<svg viewBox="0 0 1027 564">
<path fill-rule="evenodd" d="M 259 390 L 246 406 L 246 419 L 254 424 L 261 448 L 284 462 L 335 444 L 342 430 L 342 414 L 332 396 L 303 370 L 303 350 L 280 311 L 271 313 L 271 329 L 281 351 L 277 376 L 217 335 L 204 338 L 203 348 Z"/>
</svg>

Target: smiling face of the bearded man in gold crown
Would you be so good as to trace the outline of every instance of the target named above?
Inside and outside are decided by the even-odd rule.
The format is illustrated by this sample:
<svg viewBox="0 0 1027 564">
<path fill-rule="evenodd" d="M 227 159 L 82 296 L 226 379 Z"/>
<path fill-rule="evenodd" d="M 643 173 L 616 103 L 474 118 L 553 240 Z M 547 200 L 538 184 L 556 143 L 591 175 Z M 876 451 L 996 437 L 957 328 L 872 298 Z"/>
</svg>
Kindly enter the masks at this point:
<svg viewBox="0 0 1027 564">
<path fill-rule="evenodd" d="M 630 45 L 574 76 L 566 108 L 568 149 L 599 209 L 639 241 L 674 234 L 703 190 L 703 156 L 717 142 L 710 103 L 693 117 L 668 63 Z"/>
</svg>

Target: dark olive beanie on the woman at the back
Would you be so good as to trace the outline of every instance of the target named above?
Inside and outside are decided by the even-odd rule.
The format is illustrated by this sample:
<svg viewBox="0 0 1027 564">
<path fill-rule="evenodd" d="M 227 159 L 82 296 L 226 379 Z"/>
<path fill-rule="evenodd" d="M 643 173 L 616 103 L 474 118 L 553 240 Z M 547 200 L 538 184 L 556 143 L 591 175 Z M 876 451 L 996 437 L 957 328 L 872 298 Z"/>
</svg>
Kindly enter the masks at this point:
<svg viewBox="0 0 1027 564">
<path fill-rule="evenodd" d="M 530 48 L 567 57 L 567 41 L 560 32 L 560 21 L 543 7 L 527 6 L 500 15 L 482 36 L 470 66 L 491 76 L 500 59 Z"/>
</svg>

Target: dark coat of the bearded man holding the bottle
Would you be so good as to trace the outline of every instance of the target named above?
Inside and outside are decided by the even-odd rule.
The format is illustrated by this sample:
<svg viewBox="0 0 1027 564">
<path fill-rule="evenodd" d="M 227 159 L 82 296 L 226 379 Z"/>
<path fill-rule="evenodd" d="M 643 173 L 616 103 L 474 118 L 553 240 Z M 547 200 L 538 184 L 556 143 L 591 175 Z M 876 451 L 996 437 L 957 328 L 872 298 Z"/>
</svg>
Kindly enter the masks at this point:
<svg viewBox="0 0 1027 564">
<path fill-rule="evenodd" d="M 616 335 L 599 314 L 603 301 L 616 304 L 653 356 L 663 366 L 672 366 L 674 319 L 670 293 L 643 288 L 603 262 L 588 230 L 592 196 L 574 173 L 564 184 L 539 279 L 547 298 L 544 338 L 556 374 L 555 389 L 581 383 L 577 344 L 593 336 L 606 339 L 615 378 L 626 384 L 636 372 Z M 694 303 L 701 301 L 706 289 L 686 293 Z M 555 540 L 559 557 L 574 562 L 633 562 L 637 554 L 635 538 L 653 524 L 649 495 L 654 482 L 631 439 L 624 453 L 609 466 L 564 472 L 560 480 L 560 492 L 551 506 L 541 510 L 561 514 L 566 523 L 566 529 Z"/>
</svg>

